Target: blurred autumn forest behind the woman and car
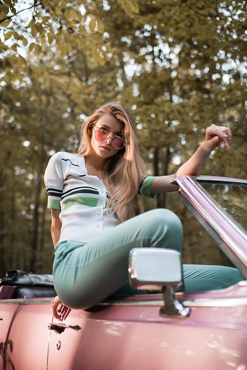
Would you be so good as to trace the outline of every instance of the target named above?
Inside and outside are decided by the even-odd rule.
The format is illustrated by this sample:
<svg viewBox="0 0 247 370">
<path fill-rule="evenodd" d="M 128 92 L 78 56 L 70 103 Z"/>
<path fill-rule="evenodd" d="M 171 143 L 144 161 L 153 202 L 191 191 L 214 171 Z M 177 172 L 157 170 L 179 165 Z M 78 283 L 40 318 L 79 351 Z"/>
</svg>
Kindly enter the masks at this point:
<svg viewBox="0 0 247 370">
<path fill-rule="evenodd" d="M 0 276 L 51 273 L 43 173 L 106 102 L 131 112 L 149 174 L 174 173 L 215 123 L 233 140 L 200 174 L 247 178 L 246 41 L 246 1 L 0 0 Z M 228 263 L 177 193 L 139 197 L 155 207 L 182 220 L 184 263 Z"/>
</svg>

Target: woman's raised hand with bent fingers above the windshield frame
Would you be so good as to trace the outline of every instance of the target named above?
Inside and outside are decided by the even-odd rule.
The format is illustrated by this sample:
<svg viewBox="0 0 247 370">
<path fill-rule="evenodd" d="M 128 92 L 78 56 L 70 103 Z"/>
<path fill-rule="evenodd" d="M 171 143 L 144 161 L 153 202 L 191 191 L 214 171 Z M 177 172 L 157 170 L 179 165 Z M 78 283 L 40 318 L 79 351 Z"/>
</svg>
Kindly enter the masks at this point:
<svg viewBox="0 0 247 370">
<path fill-rule="evenodd" d="M 232 140 L 230 128 L 225 126 L 216 126 L 214 123 L 206 128 L 206 138 L 204 149 L 206 152 L 212 152 L 220 143 L 223 143 L 224 149 L 229 147 L 228 140 Z"/>
</svg>

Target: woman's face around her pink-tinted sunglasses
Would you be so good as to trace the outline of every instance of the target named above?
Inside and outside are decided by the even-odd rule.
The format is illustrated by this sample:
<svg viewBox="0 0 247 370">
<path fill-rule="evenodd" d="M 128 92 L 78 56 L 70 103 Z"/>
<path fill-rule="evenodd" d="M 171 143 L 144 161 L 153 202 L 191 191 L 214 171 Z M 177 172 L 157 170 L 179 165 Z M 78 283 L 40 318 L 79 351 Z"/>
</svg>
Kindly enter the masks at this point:
<svg viewBox="0 0 247 370">
<path fill-rule="evenodd" d="M 95 139 L 94 130 L 97 130 L 98 128 L 104 128 L 106 131 L 114 135 L 122 136 L 123 124 L 112 115 L 106 114 L 101 117 L 92 128 L 91 147 L 93 151 L 101 158 L 115 156 L 119 149 L 114 148 L 112 144 L 112 138 L 108 137 L 105 141 L 97 141 Z"/>
</svg>

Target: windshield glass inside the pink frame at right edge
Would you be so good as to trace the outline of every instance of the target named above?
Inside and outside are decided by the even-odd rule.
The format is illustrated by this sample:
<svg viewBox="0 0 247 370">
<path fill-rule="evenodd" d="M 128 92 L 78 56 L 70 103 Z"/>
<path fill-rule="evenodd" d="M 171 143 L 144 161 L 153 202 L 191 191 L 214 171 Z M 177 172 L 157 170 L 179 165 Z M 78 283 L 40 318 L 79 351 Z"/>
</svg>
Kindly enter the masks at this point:
<svg viewBox="0 0 247 370">
<path fill-rule="evenodd" d="M 247 234 L 247 186 L 199 182 L 209 198 L 216 201 L 214 204 L 230 214 Z"/>
</svg>

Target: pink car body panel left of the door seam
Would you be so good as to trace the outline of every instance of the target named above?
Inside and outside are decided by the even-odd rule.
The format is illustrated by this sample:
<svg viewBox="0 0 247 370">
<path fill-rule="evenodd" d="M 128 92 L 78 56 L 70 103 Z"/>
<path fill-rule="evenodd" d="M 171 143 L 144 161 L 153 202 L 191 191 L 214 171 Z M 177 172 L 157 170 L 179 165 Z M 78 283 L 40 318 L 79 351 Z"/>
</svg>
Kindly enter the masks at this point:
<svg viewBox="0 0 247 370">
<path fill-rule="evenodd" d="M 0 370 L 45 370 L 50 299 L 0 300 Z"/>
</svg>

